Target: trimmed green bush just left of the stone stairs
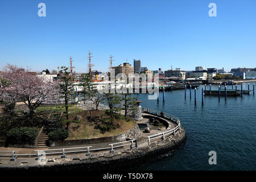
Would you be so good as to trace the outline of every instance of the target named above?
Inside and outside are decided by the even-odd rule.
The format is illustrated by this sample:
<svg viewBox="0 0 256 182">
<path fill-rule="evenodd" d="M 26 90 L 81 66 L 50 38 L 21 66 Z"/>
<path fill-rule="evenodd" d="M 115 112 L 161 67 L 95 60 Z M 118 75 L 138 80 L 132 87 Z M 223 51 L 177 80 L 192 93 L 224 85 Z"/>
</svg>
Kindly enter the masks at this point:
<svg viewBox="0 0 256 182">
<path fill-rule="evenodd" d="M 38 137 L 38 129 L 36 127 L 15 127 L 7 133 L 7 141 L 9 143 L 33 144 L 36 137 Z"/>
</svg>

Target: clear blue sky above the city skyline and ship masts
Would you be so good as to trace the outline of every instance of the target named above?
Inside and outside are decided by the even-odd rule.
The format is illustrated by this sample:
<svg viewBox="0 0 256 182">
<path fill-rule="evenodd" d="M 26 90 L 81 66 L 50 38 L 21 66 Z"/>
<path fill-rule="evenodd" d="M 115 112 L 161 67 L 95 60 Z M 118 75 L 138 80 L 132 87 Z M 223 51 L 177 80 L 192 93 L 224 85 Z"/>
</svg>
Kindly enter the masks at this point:
<svg viewBox="0 0 256 182">
<path fill-rule="evenodd" d="M 38 4 L 46 4 L 46 17 Z M 210 17 L 209 3 L 217 5 Z M 34 71 L 69 67 L 108 71 L 140 59 L 150 70 L 171 65 L 230 70 L 256 67 L 256 1 L 0 0 L 0 69 L 6 63 Z"/>
</svg>

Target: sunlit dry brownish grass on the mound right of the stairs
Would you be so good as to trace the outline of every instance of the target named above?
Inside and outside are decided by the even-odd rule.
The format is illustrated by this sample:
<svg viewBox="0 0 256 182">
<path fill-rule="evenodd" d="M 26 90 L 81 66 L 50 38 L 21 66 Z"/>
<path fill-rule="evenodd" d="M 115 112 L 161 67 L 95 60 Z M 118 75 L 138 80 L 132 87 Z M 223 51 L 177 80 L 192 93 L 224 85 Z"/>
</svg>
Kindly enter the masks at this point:
<svg viewBox="0 0 256 182">
<path fill-rule="evenodd" d="M 104 130 L 104 126 L 108 125 L 109 122 L 105 122 L 104 118 L 109 118 L 109 115 L 105 114 L 103 110 L 89 111 L 80 109 L 76 105 L 68 107 L 69 120 L 73 121 L 76 115 L 82 117 L 81 121 L 73 121 L 69 127 L 69 137 L 67 139 L 83 139 L 83 138 L 97 138 L 97 137 L 108 137 L 112 135 L 118 135 L 125 133 L 135 127 L 134 121 L 125 121 L 124 119 L 115 119 L 114 129 L 109 131 Z M 63 106 L 40 106 L 37 111 L 39 113 L 60 113 L 65 111 Z M 91 117 L 90 117 L 91 116 Z M 62 119 L 65 121 L 65 115 Z"/>
</svg>

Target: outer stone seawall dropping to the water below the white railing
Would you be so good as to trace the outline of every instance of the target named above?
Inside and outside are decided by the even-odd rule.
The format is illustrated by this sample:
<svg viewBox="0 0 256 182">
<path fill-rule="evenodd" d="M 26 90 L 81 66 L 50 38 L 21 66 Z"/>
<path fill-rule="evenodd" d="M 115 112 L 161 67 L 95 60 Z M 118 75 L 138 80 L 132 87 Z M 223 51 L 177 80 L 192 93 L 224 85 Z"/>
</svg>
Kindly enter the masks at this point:
<svg viewBox="0 0 256 182">
<path fill-rule="evenodd" d="M 180 130 L 171 137 L 172 139 L 160 140 L 152 142 L 147 147 L 133 148 L 130 150 L 119 150 L 114 154 L 94 154 L 92 156 L 86 155 L 70 155 L 65 159 L 61 158 L 48 158 L 44 165 L 33 159 L 28 164 L 18 166 L 20 161 L 9 163 L 5 167 L 0 166 L 2 170 L 32 170 L 32 171 L 84 171 L 84 170 L 128 170 L 139 169 L 142 164 L 155 162 L 156 160 L 166 158 L 174 154 L 175 151 L 182 148 L 187 139 L 185 130 L 180 127 Z M 20 159 L 21 160 L 21 159 Z"/>
</svg>

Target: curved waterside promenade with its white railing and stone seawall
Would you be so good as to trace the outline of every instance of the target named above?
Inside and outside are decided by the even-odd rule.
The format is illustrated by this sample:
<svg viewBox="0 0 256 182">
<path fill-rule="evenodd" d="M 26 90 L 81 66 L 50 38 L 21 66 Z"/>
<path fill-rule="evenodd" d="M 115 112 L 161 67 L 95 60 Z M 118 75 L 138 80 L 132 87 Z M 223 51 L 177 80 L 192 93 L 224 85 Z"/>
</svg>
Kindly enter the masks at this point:
<svg viewBox="0 0 256 182">
<path fill-rule="evenodd" d="M 3 151 L 1 169 L 122 169 L 153 162 L 183 147 L 186 135 L 178 118 L 151 109 L 142 109 L 143 118 L 157 118 L 166 129 L 155 134 L 124 142 L 89 144 L 86 146 L 51 147 L 44 150 Z"/>
</svg>

